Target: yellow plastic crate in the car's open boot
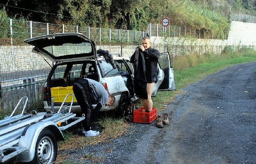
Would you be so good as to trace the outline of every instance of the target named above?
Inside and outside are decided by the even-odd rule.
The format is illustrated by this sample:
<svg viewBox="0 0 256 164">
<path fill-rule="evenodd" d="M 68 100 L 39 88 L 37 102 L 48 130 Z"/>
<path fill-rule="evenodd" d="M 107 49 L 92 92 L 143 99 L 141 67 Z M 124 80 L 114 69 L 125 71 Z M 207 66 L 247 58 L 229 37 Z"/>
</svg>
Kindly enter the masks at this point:
<svg viewBox="0 0 256 164">
<path fill-rule="evenodd" d="M 51 95 L 53 97 L 53 101 L 54 102 L 63 102 L 68 93 L 73 93 L 72 88 L 73 88 L 73 86 L 52 87 L 51 88 Z M 71 101 L 72 101 L 72 95 L 69 95 L 65 102 L 71 102 Z M 75 95 L 74 95 L 74 101 L 73 102 L 77 102 Z"/>
</svg>

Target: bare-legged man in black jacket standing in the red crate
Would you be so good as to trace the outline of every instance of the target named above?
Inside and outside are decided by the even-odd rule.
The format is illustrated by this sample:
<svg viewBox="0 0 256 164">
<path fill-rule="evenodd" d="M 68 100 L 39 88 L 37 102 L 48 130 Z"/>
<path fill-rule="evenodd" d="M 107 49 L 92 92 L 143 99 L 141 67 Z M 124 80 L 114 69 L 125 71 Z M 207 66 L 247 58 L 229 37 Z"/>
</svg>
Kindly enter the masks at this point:
<svg viewBox="0 0 256 164">
<path fill-rule="evenodd" d="M 148 36 L 143 37 L 142 45 L 138 46 L 131 56 L 134 63 L 134 90 L 136 96 L 142 99 L 145 111 L 150 112 L 153 107 L 151 94 L 157 82 L 157 63 L 160 53 L 151 48 Z"/>
</svg>

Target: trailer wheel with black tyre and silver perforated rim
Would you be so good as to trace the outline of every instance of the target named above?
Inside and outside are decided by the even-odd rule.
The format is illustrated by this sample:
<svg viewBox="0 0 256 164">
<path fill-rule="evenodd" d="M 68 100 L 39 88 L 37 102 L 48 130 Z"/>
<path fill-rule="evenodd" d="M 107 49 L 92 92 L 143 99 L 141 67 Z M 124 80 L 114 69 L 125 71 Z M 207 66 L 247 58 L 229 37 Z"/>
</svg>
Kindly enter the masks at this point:
<svg viewBox="0 0 256 164">
<path fill-rule="evenodd" d="M 51 164 L 57 157 L 57 140 L 49 129 L 43 129 L 35 145 L 35 156 L 31 164 Z"/>
</svg>

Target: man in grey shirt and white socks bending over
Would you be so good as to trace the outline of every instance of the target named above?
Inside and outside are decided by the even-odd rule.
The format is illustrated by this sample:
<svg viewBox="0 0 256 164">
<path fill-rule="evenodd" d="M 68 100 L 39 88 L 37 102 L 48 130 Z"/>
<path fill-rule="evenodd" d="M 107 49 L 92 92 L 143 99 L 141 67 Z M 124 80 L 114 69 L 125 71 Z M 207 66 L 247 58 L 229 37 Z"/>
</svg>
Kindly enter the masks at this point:
<svg viewBox="0 0 256 164">
<path fill-rule="evenodd" d="M 96 119 L 99 110 L 103 105 L 113 105 L 116 102 L 115 96 L 108 94 L 103 85 L 92 79 L 81 78 L 73 84 L 73 92 L 81 107 L 85 119 L 82 121 L 85 136 L 96 136 L 99 131 L 91 130 L 91 123 Z M 97 104 L 93 109 L 93 104 Z"/>
</svg>

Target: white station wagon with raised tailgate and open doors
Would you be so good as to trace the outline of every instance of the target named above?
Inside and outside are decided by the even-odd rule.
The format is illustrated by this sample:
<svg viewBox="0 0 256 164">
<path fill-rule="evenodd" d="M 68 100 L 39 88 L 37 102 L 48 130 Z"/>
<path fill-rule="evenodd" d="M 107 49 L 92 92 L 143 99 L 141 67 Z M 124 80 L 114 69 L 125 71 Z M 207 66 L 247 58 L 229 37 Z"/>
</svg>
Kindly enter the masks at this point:
<svg viewBox="0 0 256 164">
<path fill-rule="evenodd" d="M 84 77 L 100 82 L 108 93 L 116 97 L 113 106 L 104 106 L 101 111 L 116 109 L 127 99 L 131 101 L 138 99 L 134 93 L 133 65 L 129 58 L 118 54 L 117 57 L 116 54 L 106 55 L 104 50 L 98 51 L 100 53 L 98 54 L 95 42 L 83 34 L 50 34 L 27 39 L 24 42 L 35 46 L 32 52 L 41 54 L 55 63 L 43 89 L 46 111 L 57 111 L 67 94 L 73 93 L 73 83 Z M 175 90 L 169 53 L 160 55 L 158 70 L 158 82 L 152 96 L 156 96 L 157 89 Z M 71 101 L 72 96 L 68 96 L 64 105 L 69 108 Z M 76 98 L 73 100 L 71 112 L 81 112 Z"/>
</svg>

